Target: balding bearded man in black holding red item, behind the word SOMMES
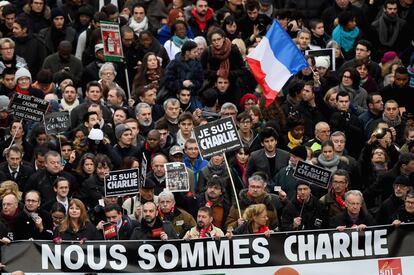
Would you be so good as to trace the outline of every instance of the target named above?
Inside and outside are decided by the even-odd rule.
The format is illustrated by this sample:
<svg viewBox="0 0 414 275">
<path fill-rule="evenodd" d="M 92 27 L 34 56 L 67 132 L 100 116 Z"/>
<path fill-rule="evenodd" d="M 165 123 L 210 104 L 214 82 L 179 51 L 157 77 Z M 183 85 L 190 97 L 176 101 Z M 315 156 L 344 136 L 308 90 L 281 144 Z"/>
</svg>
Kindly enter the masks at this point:
<svg viewBox="0 0 414 275">
<path fill-rule="evenodd" d="M 169 221 L 162 221 L 158 215 L 157 205 L 146 202 L 142 208 L 144 217 L 141 225 L 132 232 L 131 240 L 174 240 L 177 239 L 173 225 Z"/>
</svg>

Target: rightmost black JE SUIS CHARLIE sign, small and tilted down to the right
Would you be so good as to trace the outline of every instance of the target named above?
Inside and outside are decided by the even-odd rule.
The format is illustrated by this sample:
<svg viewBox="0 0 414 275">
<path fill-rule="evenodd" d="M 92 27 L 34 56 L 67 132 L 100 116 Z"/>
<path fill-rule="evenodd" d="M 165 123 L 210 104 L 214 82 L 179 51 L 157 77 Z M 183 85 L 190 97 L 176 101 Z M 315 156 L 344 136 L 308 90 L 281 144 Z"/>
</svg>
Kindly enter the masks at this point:
<svg viewBox="0 0 414 275">
<path fill-rule="evenodd" d="M 295 178 L 322 188 L 328 188 L 331 175 L 332 171 L 301 160 L 296 165 L 295 172 L 293 173 Z"/>
</svg>

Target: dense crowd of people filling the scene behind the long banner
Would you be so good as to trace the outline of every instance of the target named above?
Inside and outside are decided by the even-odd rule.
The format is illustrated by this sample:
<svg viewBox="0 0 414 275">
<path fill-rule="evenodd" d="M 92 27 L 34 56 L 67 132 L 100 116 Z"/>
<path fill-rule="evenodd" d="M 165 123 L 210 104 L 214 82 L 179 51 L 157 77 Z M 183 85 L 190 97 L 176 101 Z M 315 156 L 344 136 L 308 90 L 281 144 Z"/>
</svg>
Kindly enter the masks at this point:
<svg viewBox="0 0 414 275">
<path fill-rule="evenodd" d="M 413 221 L 412 0 L 97 2 L 0 2 L 2 244 Z M 309 67 L 266 106 L 246 56 L 274 19 Z M 103 21 L 120 26 L 122 62 L 105 61 Z M 333 58 L 307 54 L 325 48 Z M 13 117 L 15 94 L 69 112 L 70 129 Z M 193 131 L 224 117 L 242 141 L 228 167 L 200 155 Z M 328 188 L 295 178 L 299 161 L 331 171 Z M 166 188 L 168 162 L 185 164 L 188 191 Z M 122 169 L 145 181 L 105 197 Z"/>
</svg>

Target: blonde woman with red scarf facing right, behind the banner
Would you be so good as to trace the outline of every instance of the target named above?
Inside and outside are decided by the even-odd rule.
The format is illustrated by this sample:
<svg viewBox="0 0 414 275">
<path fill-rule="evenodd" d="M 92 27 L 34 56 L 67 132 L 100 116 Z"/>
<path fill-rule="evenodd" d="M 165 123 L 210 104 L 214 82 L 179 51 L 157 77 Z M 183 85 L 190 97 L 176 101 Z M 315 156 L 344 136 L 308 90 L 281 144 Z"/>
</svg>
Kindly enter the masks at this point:
<svg viewBox="0 0 414 275">
<path fill-rule="evenodd" d="M 266 205 L 253 204 L 246 208 L 243 213 L 244 223 L 234 229 L 233 234 L 264 234 L 270 236 L 272 232 L 268 227 L 268 216 Z"/>
</svg>

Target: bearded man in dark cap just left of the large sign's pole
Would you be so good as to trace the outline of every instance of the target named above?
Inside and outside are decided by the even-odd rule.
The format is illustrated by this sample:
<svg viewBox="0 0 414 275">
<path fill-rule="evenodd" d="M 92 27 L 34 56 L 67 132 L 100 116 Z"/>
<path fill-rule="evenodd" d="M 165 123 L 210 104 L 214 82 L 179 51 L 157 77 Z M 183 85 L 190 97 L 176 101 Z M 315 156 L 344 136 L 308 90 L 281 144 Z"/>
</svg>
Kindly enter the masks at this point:
<svg viewBox="0 0 414 275">
<path fill-rule="evenodd" d="M 207 182 L 207 190 L 197 195 L 197 207 L 210 207 L 213 225 L 224 230 L 224 223 L 229 214 L 231 204 L 224 197 L 224 180 L 213 176 Z"/>
</svg>

